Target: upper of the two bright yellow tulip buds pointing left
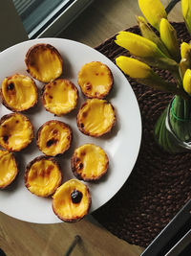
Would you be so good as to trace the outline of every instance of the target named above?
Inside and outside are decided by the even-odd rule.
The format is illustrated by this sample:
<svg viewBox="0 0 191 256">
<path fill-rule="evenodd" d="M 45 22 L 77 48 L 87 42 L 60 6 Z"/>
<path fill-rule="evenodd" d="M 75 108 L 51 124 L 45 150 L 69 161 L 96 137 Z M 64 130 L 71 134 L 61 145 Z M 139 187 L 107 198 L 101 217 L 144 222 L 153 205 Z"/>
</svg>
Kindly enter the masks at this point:
<svg viewBox="0 0 191 256">
<path fill-rule="evenodd" d="M 117 35 L 117 45 L 127 49 L 132 55 L 138 57 L 149 65 L 162 69 L 176 70 L 178 64 L 171 58 L 167 58 L 156 43 L 130 32 L 122 31 Z"/>
</svg>

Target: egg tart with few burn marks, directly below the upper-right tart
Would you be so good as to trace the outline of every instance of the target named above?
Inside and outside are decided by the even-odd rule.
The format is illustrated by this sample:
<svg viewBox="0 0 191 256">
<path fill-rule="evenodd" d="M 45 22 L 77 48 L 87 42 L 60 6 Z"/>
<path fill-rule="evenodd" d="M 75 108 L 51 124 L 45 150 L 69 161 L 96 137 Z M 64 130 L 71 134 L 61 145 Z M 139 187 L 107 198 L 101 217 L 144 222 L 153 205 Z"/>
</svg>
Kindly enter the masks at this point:
<svg viewBox="0 0 191 256">
<path fill-rule="evenodd" d="M 77 113 L 77 127 L 86 135 L 99 137 L 116 123 L 113 105 L 106 100 L 89 99 Z"/>
</svg>

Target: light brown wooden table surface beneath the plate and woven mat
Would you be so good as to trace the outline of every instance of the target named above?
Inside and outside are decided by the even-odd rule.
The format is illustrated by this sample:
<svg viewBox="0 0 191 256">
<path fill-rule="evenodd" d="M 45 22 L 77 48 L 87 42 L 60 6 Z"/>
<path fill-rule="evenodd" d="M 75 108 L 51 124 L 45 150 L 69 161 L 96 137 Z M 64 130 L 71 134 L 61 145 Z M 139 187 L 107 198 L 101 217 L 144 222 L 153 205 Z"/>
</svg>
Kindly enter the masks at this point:
<svg viewBox="0 0 191 256">
<path fill-rule="evenodd" d="M 164 6 L 169 1 L 162 0 Z M 137 25 L 140 15 L 136 0 L 95 0 L 95 2 L 58 37 L 70 38 L 96 47 L 118 31 Z M 180 4 L 169 19 L 182 21 Z M 33 224 L 14 220 L 0 213 L 0 247 L 8 256 L 64 255 L 74 236 L 81 236 L 71 255 L 137 256 L 143 248 L 128 244 L 86 218 L 76 223 Z"/>
</svg>

